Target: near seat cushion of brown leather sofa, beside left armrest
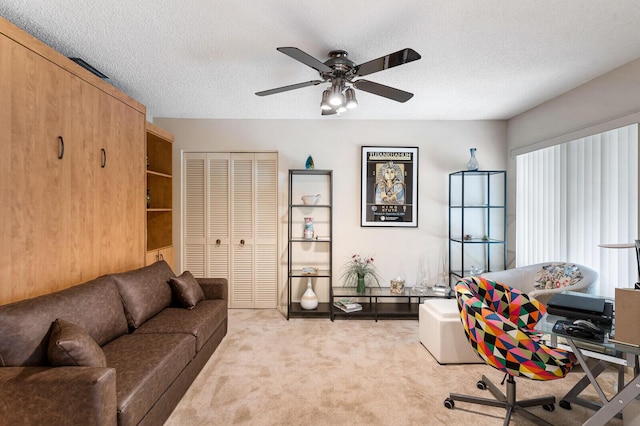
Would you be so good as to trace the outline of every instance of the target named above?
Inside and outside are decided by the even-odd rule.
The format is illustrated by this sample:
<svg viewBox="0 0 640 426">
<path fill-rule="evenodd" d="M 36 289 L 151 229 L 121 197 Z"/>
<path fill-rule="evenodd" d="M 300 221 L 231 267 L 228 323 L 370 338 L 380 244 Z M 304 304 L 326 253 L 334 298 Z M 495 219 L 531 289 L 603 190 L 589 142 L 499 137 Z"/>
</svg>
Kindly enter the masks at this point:
<svg viewBox="0 0 640 426">
<path fill-rule="evenodd" d="M 181 309 L 184 314 L 184 309 Z M 116 369 L 118 424 L 135 425 L 195 356 L 188 334 L 127 334 L 102 349 Z"/>
</svg>

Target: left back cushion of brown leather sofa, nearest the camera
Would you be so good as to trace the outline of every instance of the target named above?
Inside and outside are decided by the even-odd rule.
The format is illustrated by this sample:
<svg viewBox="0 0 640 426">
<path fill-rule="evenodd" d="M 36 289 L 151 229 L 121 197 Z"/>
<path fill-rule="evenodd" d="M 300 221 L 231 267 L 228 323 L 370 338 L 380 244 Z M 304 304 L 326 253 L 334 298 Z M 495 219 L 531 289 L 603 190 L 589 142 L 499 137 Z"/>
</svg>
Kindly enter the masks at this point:
<svg viewBox="0 0 640 426">
<path fill-rule="evenodd" d="M 127 319 L 113 279 L 96 278 L 56 293 L 0 306 L 0 365 L 48 365 L 51 323 L 71 322 L 102 346 L 127 333 Z"/>
</svg>

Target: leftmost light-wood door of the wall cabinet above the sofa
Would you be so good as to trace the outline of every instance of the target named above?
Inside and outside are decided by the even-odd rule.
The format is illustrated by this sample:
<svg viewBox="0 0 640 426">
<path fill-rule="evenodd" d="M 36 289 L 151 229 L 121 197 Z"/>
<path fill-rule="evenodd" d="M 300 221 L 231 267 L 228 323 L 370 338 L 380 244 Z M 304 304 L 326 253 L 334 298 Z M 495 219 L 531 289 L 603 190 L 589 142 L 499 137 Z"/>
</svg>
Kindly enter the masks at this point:
<svg viewBox="0 0 640 426">
<path fill-rule="evenodd" d="M 25 260 L 70 259 L 71 163 L 69 150 L 61 154 L 58 138 L 68 134 L 71 77 L 5 36 L 0 36 L 0 50 L 0 103 L 7 111 L 0 122 L 4 159 L 0 285 L 2 301 L 7 302 L 37 294 L 40 283 L 56 289 L 70 280 L 68 263 Z"/>
</svg>

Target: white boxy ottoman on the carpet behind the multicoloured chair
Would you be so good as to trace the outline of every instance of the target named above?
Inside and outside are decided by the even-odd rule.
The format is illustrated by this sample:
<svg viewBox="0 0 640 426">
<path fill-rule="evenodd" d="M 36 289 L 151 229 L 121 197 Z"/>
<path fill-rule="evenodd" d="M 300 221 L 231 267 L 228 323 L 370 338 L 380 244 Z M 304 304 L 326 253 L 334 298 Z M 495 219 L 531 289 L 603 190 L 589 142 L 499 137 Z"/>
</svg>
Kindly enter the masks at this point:
<svg viewBox="0 0 640 426">
<path fill-rule="evenodd" d="M 464 335 L 456 299 L 427 299 L 418 315 L 420 342 L 440 364 L 483 362 Z"/>
</svg>

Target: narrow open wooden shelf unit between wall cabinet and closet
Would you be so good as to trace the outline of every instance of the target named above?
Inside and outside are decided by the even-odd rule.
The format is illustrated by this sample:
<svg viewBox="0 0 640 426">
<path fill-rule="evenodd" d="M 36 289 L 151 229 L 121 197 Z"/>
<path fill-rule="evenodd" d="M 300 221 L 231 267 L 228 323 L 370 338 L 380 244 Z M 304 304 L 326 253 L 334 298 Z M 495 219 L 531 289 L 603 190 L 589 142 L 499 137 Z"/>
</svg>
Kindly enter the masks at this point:
<svg viewBox="0 0 640 426">
<path fill-rule="evenodd" d="M 174 136 L 147 122 L 146 264 L 165 260 L 175 268 L 172 229 L 172 153 Z"/>
</svg>

